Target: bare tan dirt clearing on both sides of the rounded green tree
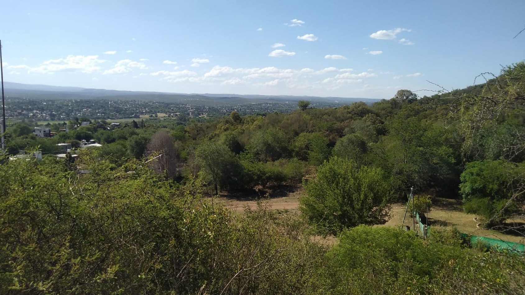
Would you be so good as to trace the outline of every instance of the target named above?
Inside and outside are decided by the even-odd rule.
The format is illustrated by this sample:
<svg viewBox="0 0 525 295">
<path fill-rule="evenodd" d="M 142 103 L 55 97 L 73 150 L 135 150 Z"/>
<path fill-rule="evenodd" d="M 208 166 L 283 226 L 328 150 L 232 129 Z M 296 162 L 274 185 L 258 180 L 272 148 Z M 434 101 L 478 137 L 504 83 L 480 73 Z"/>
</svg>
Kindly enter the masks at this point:
<svg viewBox="0 0 525 295">
<path fill-rule="evenodd" d="M 237 212 L 242 212 L 246 207 L 255 209 L 257 201 L 265 196 L 266 192 L 253 194 L 224 194 L 218 198 L 218 202 L 222 202 L 228 208 Z M 284 187 L 268 194 L 268 201 L 272 209 L 287 210 L 290 213 L 299 212 L 299 198 L 304 194 L 302 186 Z M 476 225 L 478 221 L 474 218 L 475 215 L 465 214 L 461 207 L 461 202 L 457 199 L 434 198 L 432 200 L 433 207 L 428 213 L 428 220 L 430 225 L 440 226 L 456 226 L 461 233 L 490 237 L 512 241 L 515 243 L 525 244 L 525 237 L 502 234 L 496 230 L 488 230 L 478 228 Z M 381 226 L 398 226 L 401 227 L 403 222 L 403 215 L 405 213 L 406 204 L 395 203 L 392 204 L 392 218 Z M 525 222 L 525 220 L 507 220 L 507 222 Z M 404 225 L 412 227 L 412 217 L 406 215 Z"/>
</svg>

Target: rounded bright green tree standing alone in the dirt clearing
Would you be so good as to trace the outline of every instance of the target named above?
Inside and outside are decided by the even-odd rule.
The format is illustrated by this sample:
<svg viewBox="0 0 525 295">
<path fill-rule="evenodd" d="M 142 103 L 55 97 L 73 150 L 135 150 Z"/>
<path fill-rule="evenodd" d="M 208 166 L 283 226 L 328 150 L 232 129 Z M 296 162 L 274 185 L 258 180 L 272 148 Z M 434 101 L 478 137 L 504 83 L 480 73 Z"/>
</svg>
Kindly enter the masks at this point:
<svg viewBox="0 0 525 295">
<path fill-rule="evenodd" d="M 319 166 L 316 178 L 305 183 L 301 212 L 311 224 L 329 234 L 360 224 L 383 224 L 390 216 L 390 182 L 381 168 L 358 167 L 333 157 Z"/>
</svg>

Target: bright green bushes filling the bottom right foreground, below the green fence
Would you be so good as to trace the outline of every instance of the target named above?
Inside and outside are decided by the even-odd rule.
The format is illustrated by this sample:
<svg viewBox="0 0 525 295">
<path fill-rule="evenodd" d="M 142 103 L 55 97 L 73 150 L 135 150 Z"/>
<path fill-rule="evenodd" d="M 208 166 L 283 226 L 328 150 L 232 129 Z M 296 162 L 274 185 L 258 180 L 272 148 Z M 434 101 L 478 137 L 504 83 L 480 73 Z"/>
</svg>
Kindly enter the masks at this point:
<svg viewBox="0 0 525 295">
<path fill-rule="evenodd" d="M 519 294 L 522 259 L 424 241 L 398 228 L 345 230 L 322 270 L 331 294 Z"/>
</svg>

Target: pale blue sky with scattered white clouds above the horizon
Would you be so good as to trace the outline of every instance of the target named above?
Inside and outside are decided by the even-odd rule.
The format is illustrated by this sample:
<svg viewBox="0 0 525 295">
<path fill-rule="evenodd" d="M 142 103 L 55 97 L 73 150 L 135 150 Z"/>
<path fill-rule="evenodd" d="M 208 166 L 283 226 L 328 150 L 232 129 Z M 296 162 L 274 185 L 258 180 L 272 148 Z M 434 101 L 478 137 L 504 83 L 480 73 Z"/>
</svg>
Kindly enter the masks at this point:
<svg viewBox="0 0 525 295">
<path fill-rule="evenodd" d="M 4 80 L 19 83 L 388 99 L 439 90 L 427 80 L 464 88 L 525 59 L 525 32 L 513 38 L 523 0 L 1 6 Z"/>
</svg>

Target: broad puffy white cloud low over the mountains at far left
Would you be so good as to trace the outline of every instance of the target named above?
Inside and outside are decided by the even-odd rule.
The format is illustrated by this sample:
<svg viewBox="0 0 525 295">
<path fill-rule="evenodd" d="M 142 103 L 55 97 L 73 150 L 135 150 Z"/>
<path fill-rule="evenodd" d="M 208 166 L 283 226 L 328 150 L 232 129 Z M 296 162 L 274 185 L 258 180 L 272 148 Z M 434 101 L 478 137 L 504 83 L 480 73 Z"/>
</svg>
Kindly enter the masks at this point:
<svg viewBox="0 0 525 295">
<path fill-rule="evenodd" d="M 99 71 L 99 64 L 105 61 L 106 60 L 99 59 L 98 55 L 68 55 L 66 58 L 44 61 L 40 66 L 29 68 L 28 71 L 34 73 L 54 73 L 61 71 L 91 73 Z"/>
</svg>

